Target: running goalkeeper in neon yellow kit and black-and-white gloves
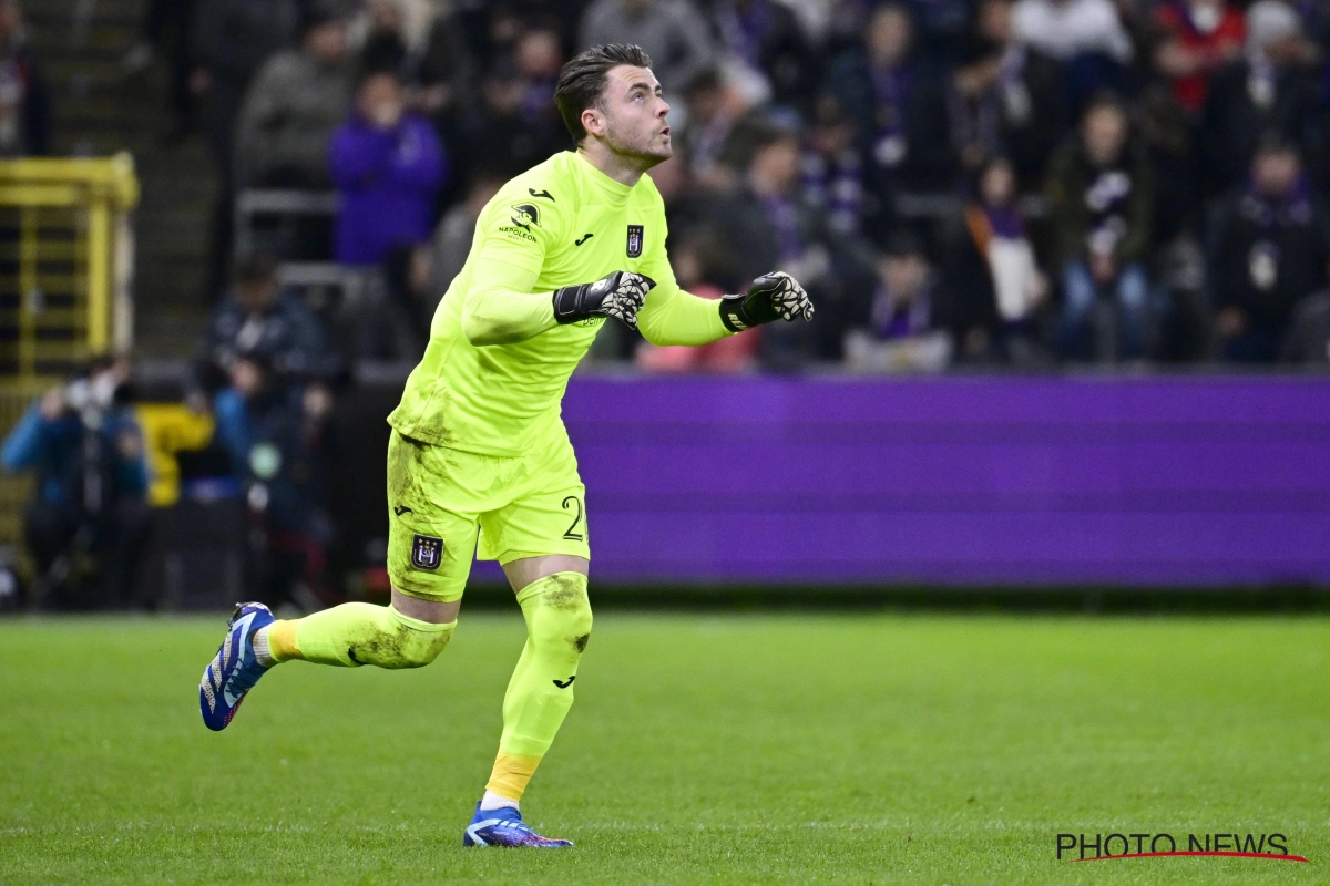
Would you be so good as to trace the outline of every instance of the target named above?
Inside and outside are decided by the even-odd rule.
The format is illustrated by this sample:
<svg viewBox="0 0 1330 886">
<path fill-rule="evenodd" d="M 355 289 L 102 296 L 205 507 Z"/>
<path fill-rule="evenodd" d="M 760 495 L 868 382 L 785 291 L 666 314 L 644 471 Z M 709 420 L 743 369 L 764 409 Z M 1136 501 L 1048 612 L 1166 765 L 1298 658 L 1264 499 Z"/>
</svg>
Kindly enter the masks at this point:
<svg viewBox="0 0 1330 886">
<path fill-rule="evenodd" d="M 573 703 L 592 627 L 585 487 L 560 418 L 577 361 L 606 317 L 654 344 L 698 345 L 813 316 L 782 272 L 718 302 L 678 288 L 664 205 L 644 175 L 670 157 L 669 105 L 638 46 L 583 52 L 555 100 L 577 150 L 517 175 L 484 209 L 388 417 L 391 606 L 274 620 L 241 604 L 200 684 L 203 721 L 222 729 L 283 662 L 423 667 L 448 646 L 472 555 L 497 559 L 528 634 L 468 846 L 572 845 L 533 832 L 517 804 Z"/>
</svg>

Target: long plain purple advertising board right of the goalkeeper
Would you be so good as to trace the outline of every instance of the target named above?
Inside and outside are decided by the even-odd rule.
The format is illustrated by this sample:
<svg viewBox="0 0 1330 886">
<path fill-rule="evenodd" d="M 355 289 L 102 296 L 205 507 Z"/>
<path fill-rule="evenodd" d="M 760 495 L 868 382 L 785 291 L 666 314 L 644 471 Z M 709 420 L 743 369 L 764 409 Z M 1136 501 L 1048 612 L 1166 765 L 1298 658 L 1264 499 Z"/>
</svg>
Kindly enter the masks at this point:
<svg viewBox="0 0 1330 886">
<path fill-rule="evenodd" d="M 1330 379 L 577 376 L 613 583 L 1330 583 Z"/>
</svg>

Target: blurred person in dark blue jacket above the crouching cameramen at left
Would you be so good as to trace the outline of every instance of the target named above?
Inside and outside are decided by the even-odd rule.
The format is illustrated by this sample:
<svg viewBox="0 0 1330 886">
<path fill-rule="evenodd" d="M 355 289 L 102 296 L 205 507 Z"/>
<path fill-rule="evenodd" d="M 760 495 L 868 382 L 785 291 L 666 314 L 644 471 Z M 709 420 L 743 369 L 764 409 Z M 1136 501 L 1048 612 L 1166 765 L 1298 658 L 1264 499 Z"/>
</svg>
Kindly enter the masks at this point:
<svg viewBox="0 0 1330 886">
<path fill-rule="evenodd" d="M 283 384 L 323 375 L 323 328 L 305 302 L 282 292 L 277 260 L 266 252 L 242 256 L 233 280 L 229 298 L 209 320 L 203 360 L 225 371 L 241 360 L 261 360 Z"/>
</svg>

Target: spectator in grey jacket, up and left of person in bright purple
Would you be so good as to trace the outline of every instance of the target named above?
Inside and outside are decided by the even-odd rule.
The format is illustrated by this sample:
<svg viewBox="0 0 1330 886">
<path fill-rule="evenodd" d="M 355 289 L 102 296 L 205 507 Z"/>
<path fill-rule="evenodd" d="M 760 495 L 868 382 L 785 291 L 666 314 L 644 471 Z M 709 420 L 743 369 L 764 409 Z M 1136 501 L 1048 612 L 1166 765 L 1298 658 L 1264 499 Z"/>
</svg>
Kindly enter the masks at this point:
<svg viewBox="0 0 1330 886">
<path fill-rule="evenodd" d="M 306 17 L 301 48 L 269 58 L 245 98 L 237 134 L 241 182 L 329 187 L 329 138 L 350 104 L 346 23 L 315 11 Z"/>
</svg>

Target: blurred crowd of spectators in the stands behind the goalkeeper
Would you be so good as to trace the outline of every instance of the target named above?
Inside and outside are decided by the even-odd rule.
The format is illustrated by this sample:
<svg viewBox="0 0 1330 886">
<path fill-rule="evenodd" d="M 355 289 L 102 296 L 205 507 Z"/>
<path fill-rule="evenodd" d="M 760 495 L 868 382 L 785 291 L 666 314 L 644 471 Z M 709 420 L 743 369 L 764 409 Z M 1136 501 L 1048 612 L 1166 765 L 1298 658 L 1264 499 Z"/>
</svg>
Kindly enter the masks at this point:
<svg viewBox="0 0 1330 886">
<path fill-rule="evenodd" d="M 782 267 L 819 316 L 700 352 L 614 329 L 596 357 L 1327 361 L 1323 4 L 193 0 L 170 15 L 189 37 L 181 113 L 229 182 L 219 262 L 237 193 L 336 190 L 331 236 L 306 224 L 271 244 L 384 271 L 403 335 L 362 333 L 352 356 L 420 348 L 479 207 L 571 145 L 561 62 L 624 41 L 673 102 L 677 155 L 653 178 L 680 276 L 714 294 Z"/>
</svg>

